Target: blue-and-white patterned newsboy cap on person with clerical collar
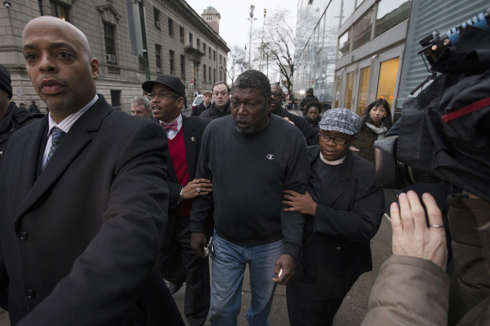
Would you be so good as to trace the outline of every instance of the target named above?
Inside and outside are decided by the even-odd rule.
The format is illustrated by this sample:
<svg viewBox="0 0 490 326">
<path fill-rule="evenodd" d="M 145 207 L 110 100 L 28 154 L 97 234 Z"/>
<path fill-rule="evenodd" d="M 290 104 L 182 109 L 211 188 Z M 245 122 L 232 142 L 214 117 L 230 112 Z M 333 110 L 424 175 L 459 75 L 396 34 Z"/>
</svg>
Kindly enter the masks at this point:
<svg viewBox="0 0 490 326">
<path fill-rule="evenodd" d="M 355 135 L 361 127 L 361 118 L 349 109 L 330 109 L 318 123 L 321 130 L 338 131 L 347 135 Z"/>
</svg>

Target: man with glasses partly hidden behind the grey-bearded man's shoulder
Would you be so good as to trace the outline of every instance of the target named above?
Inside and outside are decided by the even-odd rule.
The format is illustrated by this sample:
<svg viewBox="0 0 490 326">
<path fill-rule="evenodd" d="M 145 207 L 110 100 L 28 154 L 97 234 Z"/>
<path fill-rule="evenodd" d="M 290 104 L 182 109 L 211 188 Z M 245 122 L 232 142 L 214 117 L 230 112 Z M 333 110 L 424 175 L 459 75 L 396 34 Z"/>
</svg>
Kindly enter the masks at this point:
<svg viewBox="0 0 490 326">
<path fill-rule="evenodd" d="M 287 117 L 287 119 L 294 123 L 296 127 L 301 130 L 301 133 L 306 138 L 306 143 L 308 146 L 318 145 L 318 133 L 320 129 L 313 127 L 308 123 L 308 121 L 302 116 L 296 116 L 288 112 L 286 109 L 281 107 L 283 104 L 283 90 L 278 84 L 271 84 L 271 108 L 270 112 L 273 115 L 280 116 L 282 118 Z"/>
</svg>

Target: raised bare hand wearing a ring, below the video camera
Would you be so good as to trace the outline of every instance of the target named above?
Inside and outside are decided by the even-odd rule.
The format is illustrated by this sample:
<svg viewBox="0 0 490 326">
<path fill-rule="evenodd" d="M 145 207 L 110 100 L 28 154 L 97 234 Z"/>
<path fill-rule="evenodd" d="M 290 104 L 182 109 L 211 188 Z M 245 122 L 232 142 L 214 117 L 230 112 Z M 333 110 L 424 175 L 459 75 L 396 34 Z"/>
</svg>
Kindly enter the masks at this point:
<svg viewBox="0 0 490 326">
<path fill-rule="evenodd" d="M 410 190 L 398 196 L 397 203 L 391 204 L 391 227 L 393 229 L 393 254 L 428 259 L 446 270 L 446 234 L 436 200 L 430 193 L 422 195 L 429 225 L 418 195 Z"/>
</svg>

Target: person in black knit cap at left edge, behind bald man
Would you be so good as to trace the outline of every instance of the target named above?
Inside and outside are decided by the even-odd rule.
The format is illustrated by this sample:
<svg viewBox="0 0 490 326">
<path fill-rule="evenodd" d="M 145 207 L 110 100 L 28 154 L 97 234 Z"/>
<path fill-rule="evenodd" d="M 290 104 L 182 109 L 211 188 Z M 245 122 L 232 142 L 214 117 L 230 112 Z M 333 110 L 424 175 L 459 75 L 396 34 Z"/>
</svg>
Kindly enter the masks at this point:
<svg viewBox="0 0 490 326">
<path fill-rule="evenodd" d="M 10 101 L 11 98 L 10 73 L 0 65 L 0 155 L 10 135 L 17 129 L 34 123 L 44 116 L 29 113 L 26 109 L 19 109 L 14 102 Z"/>
</svg>

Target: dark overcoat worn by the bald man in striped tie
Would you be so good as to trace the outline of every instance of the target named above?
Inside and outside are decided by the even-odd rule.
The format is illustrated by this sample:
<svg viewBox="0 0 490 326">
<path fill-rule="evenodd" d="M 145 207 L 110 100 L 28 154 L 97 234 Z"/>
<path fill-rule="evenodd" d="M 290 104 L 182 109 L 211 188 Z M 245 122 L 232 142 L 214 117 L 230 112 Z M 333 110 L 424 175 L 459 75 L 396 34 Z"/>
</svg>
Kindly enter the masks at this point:
<svg viewBox="0 0 490 326">
<path fill-rule="evenodd" d="M 47 131 L 48 115 L 17 131 L 0 165 L 11 325 L 183 325 L 155 267 L 167 221 L 163 129 L 99 94 L 39 172 Z"/>
</svg>

